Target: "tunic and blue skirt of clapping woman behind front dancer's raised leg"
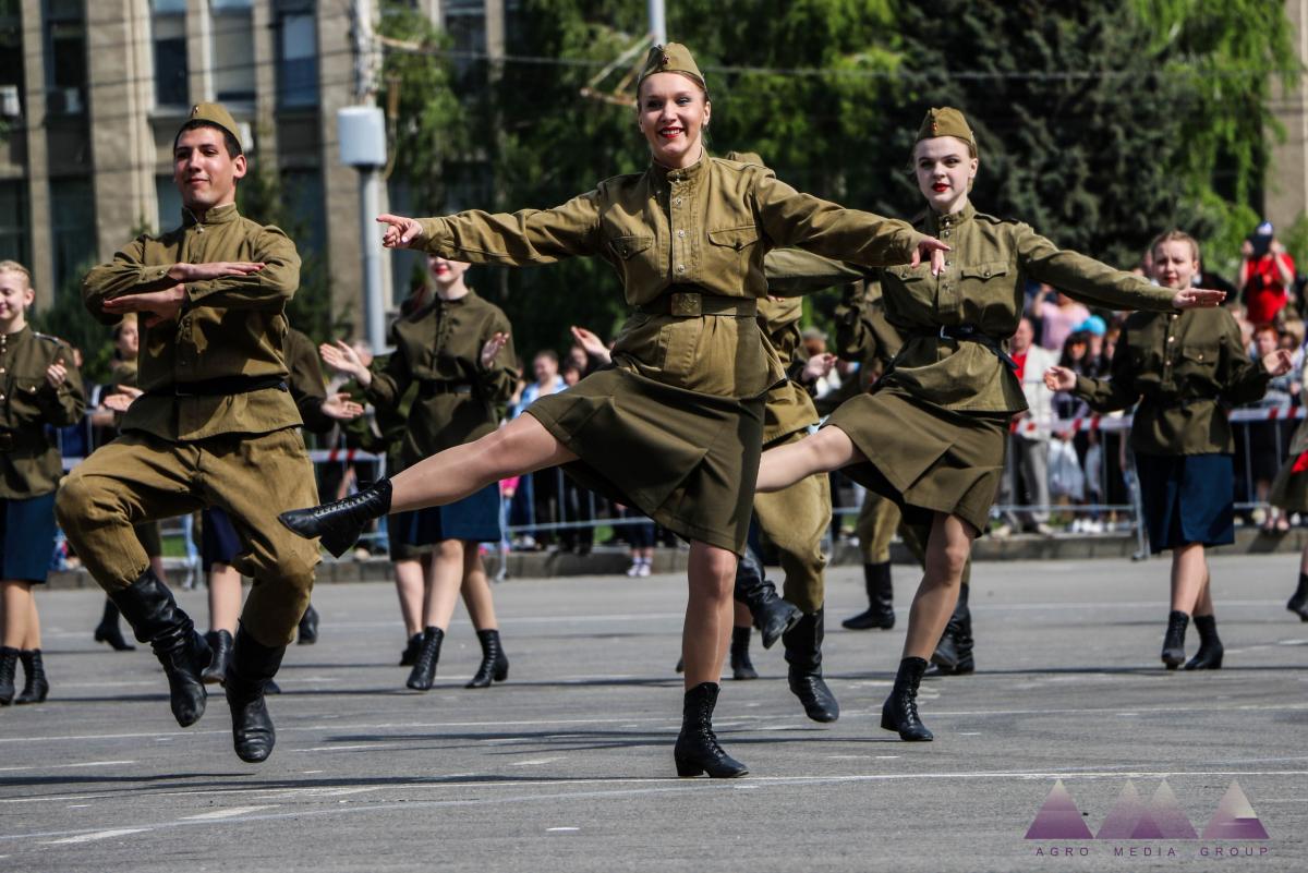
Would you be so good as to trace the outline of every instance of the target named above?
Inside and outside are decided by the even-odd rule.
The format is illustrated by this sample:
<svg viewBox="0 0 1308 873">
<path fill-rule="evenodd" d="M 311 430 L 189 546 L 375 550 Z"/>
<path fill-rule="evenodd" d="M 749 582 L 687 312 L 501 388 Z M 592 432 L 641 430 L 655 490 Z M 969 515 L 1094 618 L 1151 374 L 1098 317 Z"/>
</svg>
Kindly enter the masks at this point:
<svg viewBox="0 0 1308 873">
<path fill-rule="evenodd" d="M 394 410 L 416 387 L 400 442 L 402 468 L 429 455 L 471 443 L 500 425 L 498 410 L 513 396 L 513 340 L 481 363 L 481 348 L 496 333 L 511 335 L 498 306 L 476 291 L 456 299 L 433 293 L 391 327 L 394 354 L 373 375 L 365 396 L 378 409 Z M 447 506 L 396 512 L 390 521 L 392 554 L 417 557 L 441 540 L 498 541 L 500 485 L 493 482 Z"/>
</svg>

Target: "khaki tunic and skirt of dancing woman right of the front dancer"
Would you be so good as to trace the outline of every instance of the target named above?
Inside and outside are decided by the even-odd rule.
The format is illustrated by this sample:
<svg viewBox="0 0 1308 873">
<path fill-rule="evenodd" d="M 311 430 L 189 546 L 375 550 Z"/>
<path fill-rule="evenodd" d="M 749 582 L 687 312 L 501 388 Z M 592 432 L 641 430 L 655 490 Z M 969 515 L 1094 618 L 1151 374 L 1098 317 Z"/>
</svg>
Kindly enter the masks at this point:
<svg viewBox="0 0 1308 873">
<path fill-rule="evenodd" d="M 909 524 L 934 512 L 985 531 L 1003 474 L 1008 420 L 1027 408 L 999 357 L 1016 332 L 1028 281 L 1095 306 L 1172 308 L 1173 291 L 1057 248 L 1029 226 L 976 212 L 929 213 L 916 227 L 951 246 L 944 271 L 930 264 L 882 273 L 889 323 L 904 337 L 876 391 L 850 399 L 828 420 L 867 457 L 846 468 L 855 481 L 900 503 Z M 982 341 L 951 338 L 973 329 Z"/>
</svg>

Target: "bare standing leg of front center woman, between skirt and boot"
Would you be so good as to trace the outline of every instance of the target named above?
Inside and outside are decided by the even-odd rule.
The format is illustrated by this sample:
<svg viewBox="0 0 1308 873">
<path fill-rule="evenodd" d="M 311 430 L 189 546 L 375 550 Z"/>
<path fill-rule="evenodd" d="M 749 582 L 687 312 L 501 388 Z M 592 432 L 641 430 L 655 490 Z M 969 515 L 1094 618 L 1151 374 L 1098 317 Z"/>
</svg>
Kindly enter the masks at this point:
<svg viewBox="0 0 1308 873">
<path fill-rule="evenodd" d="M 722 678 L 722 661 L 731 644 L 731 616 L 736 557 L 706 542 L 691 542 L 687 568 L 689 597 L 681 629 L 685 687 Z"/>
</svg>

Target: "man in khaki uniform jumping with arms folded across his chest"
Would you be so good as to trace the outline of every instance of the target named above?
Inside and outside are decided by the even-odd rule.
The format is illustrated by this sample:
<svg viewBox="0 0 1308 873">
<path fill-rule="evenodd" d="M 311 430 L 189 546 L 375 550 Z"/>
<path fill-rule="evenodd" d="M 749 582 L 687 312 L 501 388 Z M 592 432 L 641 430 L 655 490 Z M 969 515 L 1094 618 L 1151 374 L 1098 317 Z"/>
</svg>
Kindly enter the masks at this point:
<svg viewBox="0 0 1308 873">
<path fill-rule="evenodd" d="M 150 571 L 132 525 L 226 511 L 254 579 L 226 674 L 235 751 L 271 754 L 264 687 L 309 604 L 318 545 L 277 524 L 315 497 L 300 413 L 286 389 L 285 306 L 300 257 L 284 233 L 237 214 L 246 158 L 232 115 L 201 103 L 174 141 L 182 226 L 143 235 L 86 274 L 86 308 L 106 324 L 141 314 L 140 388 L 122 435 L 64 481 L 56 512 L 88 570 L 150 643 L 169 678 L 173 715 L 204 714 L 209 647 Z"/>
</svg>

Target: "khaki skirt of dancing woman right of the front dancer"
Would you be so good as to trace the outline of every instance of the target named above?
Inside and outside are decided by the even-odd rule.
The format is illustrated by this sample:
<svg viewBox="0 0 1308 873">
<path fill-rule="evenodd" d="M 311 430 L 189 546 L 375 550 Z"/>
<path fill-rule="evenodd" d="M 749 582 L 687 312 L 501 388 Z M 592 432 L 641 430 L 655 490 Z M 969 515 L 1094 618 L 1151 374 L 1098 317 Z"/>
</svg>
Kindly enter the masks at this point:
<svg viewBox="0 0 1308 873">
<path fill-rule="evenodd" d="M 906 524 L 957 515 L 986 529 L 1003 476 L 1008 413 L 961 413 L 883 388 L 840 405 L 840 427 L 867 461 L 844 468 L 859 485 L 899 504 Z"/>
</svg>

